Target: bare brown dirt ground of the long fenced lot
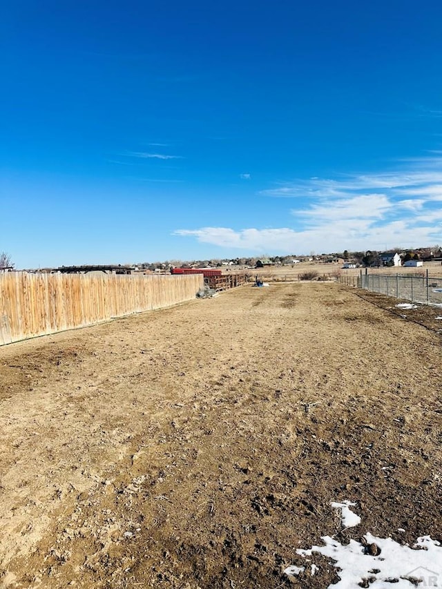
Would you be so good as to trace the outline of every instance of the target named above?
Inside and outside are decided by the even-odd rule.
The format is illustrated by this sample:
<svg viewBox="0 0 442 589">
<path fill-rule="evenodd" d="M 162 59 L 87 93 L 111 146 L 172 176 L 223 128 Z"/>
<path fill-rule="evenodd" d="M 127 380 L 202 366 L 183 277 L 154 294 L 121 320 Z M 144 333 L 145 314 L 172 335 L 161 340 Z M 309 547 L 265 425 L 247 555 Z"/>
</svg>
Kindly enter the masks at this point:
<svg viewBox="0 0 442 589">
<path fill-rule="evenodd" d="M 442 310 L 396 302 L 248 286 L 0 348 L 0 586 L 324 588 L 283 570 L 325 534 L 442 541 Z"/>
</svg>

